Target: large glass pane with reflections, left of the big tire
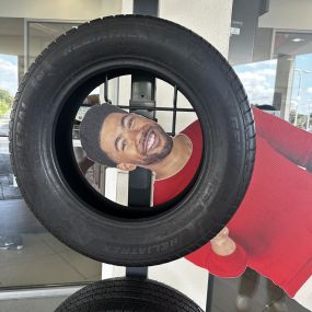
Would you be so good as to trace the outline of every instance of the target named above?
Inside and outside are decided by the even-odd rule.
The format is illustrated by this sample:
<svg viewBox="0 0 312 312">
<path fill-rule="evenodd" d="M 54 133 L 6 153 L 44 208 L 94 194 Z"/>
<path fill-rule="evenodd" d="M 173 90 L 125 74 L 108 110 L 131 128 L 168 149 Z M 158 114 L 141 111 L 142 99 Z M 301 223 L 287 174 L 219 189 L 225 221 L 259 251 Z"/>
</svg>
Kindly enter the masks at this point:
<svg viewBox="0 0 312 312">
<path fill-rule="evenodd" d="M 10 113 L 23 73 L 50 42 L 78 25 L 0 18 L 0 290 L 101 279 L 101 263 L 60 243 L 33 216 L 9 153 Z"/>
</svg>

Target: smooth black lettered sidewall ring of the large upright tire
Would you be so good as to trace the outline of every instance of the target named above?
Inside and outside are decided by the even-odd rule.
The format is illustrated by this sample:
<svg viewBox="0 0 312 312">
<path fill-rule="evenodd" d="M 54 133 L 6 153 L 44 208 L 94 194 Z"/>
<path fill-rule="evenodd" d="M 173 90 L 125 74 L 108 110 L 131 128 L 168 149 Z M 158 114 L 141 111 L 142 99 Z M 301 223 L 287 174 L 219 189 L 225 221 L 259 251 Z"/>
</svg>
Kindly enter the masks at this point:
<svg viewBox="0 0 312 312">
<path fill-rule="evenodd" d="M 74 250 L 120 265 L 166 262 L 211 239 L 238 207 L 246 158 L 242 109 L 219 54 L 182 27 L 148 22 L 103 20 L 101 27 L 85 26 L 60 41 L 37 60 L 14 122 L 15 171 L 35 215 Z M 192 190 L 171 211 L 140 221 L 86 209 L 63 178 L 54 151 L 65 91 L 78 77 L 120 59 L 159 68 L 181 81 L 196 99 L 193 104 L 204 129 L 203 165 Z"/>
</svg>

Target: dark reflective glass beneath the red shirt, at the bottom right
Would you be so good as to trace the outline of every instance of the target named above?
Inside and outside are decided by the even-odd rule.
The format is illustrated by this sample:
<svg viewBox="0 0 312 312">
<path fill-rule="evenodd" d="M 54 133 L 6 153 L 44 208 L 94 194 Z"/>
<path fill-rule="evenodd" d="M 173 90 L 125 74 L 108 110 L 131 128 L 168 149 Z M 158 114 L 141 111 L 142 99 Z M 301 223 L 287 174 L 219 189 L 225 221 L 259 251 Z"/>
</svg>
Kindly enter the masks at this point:
<svg viewBox="0 0 312 312">
<path fill-rule="evenodd" d="M 241 278 L 215 278 L 211 312 L 309 312 L 268 279 L 247 269 Z"/>
</svg>

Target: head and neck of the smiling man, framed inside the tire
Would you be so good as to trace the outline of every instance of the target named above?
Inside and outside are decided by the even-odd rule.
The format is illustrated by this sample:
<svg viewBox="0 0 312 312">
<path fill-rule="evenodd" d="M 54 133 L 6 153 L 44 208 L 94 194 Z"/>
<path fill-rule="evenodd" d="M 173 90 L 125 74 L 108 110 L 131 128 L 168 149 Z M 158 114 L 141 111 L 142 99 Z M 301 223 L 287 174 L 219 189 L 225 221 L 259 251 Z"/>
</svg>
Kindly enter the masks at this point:
<svg viewBox="0 0 312 312">
<path fill-rule="evenodd" d="M 192 153 L 187 137 L 171 138 L 155 122 L 108 104 L 90 108 L 80 132 L 89 159 L 125 171 L 139 165 L 157 178 L 175 174 Z"/>
</svg>

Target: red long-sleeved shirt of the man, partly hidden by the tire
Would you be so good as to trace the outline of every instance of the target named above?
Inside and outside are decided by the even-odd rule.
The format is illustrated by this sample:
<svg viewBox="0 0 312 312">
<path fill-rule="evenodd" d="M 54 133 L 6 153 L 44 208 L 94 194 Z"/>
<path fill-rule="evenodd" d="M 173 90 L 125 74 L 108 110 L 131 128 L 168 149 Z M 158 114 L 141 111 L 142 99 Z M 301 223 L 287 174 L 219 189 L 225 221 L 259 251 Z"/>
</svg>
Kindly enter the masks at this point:
<svg viewBox="0 0 312 312">
<path fill-rule="evenodd" d="M 236 250 L 229 256 L 210 243 L 186 256 L 220 277 L 241 275 L 246 266 L 271 279 L 293 297 L 312 274 L 312 135 L 254 108 L 256 159 L 246 195 L 228 223 Z M 198 122 L 184 131 L 193 142 L 186 165 L 155 181 L 154 204 L 173 198 L 190 182 L 201 155 Z"/>
</svg>

